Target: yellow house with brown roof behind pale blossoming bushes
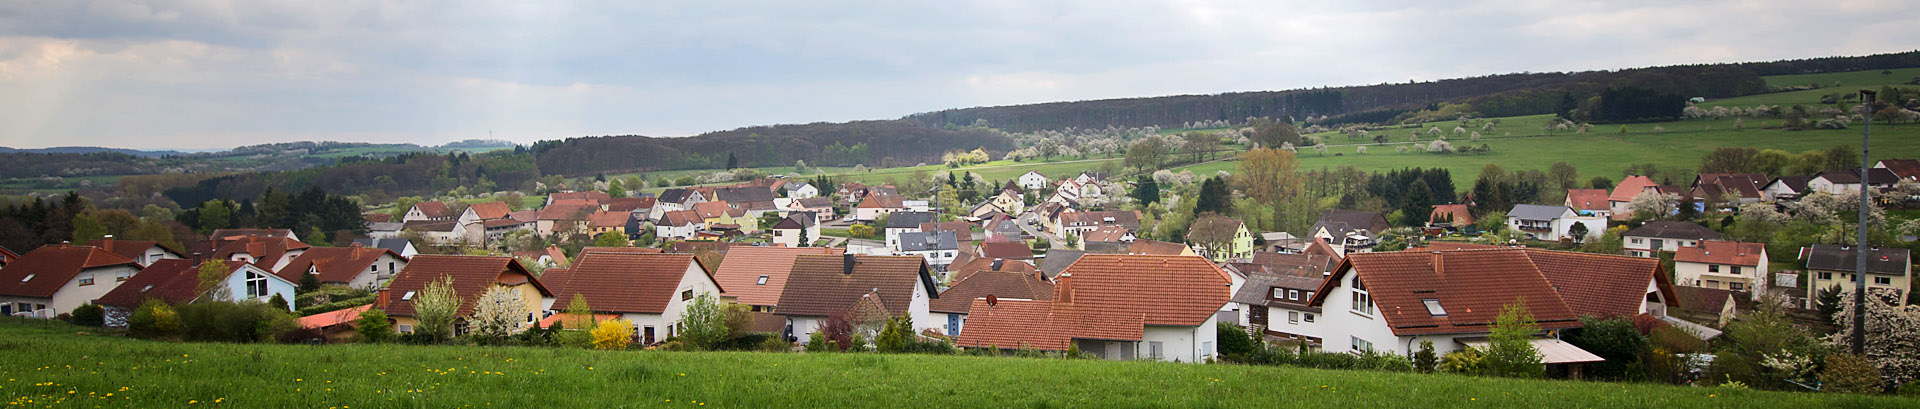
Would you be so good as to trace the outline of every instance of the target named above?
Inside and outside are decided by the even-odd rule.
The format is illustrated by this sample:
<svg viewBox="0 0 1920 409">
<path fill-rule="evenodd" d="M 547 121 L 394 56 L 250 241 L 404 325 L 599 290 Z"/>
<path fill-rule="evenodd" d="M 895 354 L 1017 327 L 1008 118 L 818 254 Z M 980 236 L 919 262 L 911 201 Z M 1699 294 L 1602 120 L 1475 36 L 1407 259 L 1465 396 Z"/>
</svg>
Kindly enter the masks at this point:
<svg viewBox="0 0 1920 409">
<path fill-rule="evenodd" d="M 409 259 L 407 269 L 399 271 L 386 290 L 380 290 L 374 305 L 394 319 L 394 330 L 413 332 L 420 325 L 413 303 L 420 300 L 430 282 L 447 278 L 453 282 L 453 296 L 461 300 L 453 313 L 453 336 L 467 334 L 467 317 L 474 313 L 480 296 L 493 286 L 520 292 L 520 301 L 526 303 L 526 317 L 520 319 L 522 328 L 534 325 L 553 298 L 553 292 L 513 257 L 422 253 Z"/>
</svg>

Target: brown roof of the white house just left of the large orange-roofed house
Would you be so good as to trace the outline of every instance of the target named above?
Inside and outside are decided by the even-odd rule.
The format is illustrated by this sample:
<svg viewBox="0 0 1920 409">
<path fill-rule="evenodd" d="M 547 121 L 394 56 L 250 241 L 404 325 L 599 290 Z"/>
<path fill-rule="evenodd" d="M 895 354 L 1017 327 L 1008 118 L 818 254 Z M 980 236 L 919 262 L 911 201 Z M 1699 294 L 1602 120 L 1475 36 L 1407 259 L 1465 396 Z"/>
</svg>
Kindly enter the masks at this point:
<svg viewBox="0 0 1920 409">
<path fill-rule="evenodd" d="M 845 261 L 852 261 L 847 273 Z M 780 292 L 780 315 L 831 317 L 847 313 L 868 292 L 877 292 L 887 311 L 908 311 L 914 286 L 937 298 L 927 259 L 918 255 L 799 255 Z"/>
</svg>

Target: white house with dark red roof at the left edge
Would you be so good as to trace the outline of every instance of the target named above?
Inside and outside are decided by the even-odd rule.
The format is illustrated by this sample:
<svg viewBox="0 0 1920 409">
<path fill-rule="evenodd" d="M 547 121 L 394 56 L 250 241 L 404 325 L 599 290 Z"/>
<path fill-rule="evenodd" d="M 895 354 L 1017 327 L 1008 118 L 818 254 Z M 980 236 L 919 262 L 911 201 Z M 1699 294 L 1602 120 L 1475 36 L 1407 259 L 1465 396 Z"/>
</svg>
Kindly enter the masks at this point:
<svg viewBox="0 0 1920 409">
<path fill-rule="evenodd" d="M 140 273 L 129 257 L 94 246 L 40 246 L 0 269 L 0 317 L 73 313 Z"/>
</svg>

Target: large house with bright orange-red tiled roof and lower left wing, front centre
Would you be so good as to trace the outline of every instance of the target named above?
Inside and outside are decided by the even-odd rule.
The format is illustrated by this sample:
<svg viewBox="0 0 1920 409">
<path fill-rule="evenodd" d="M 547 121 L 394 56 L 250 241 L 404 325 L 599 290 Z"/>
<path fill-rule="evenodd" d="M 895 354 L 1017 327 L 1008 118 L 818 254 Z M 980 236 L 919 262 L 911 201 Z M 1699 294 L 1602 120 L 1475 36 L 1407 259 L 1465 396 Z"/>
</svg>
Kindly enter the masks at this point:
<svg viewBox="0 0 1920 409">
<path fill-rule="evenodd" d="M 1217 355 L 1229 277 L 1198 255 L 1087 253 L 1054 277 L 1052 300 L 973 298 L 956 344 L 1202 363 Z"/>
</svg>

